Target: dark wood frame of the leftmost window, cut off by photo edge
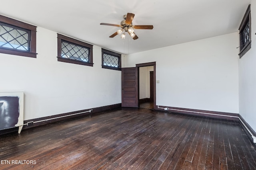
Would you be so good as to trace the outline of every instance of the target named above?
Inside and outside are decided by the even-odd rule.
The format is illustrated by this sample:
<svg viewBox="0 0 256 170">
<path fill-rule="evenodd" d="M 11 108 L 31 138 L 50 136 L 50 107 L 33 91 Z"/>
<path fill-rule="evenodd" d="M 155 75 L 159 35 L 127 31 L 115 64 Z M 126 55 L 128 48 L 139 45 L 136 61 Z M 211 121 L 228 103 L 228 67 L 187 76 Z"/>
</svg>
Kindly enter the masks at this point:
<svg viewBox="0 0 256 170">
<path fill-rule="evenodd" d="M 13 26 L 14 28 L 21 28 L 30 31 L 30 37 L 28 38 L 28 51 L 0 47 L 0 53 L 36 58 L 36 26 L 2 15 L 0 15 L 0 22 Z"/>
</svg>

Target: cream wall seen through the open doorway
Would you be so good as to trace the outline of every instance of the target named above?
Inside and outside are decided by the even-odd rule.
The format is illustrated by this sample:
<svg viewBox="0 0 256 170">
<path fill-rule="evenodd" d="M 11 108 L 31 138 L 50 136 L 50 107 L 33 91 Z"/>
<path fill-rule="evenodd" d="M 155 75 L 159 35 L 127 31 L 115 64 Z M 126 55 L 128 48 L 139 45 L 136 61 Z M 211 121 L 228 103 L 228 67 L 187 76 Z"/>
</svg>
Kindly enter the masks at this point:
<svg viewBox="0 0 256 170">
<path fill-rule="evenodd" d="M 154 71 L 154 66 L 140 67 L 140 99 L 150 98 L 150 71 Z"/>
</svg>

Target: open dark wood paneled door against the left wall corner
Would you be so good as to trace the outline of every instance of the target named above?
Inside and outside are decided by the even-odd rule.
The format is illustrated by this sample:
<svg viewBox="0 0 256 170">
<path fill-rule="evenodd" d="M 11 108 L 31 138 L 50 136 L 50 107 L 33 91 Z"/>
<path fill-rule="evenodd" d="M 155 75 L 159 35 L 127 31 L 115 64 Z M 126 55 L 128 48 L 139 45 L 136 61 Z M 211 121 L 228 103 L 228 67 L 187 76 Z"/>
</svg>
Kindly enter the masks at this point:
<svg viewBox="0 0 256 170">
<path fill-rule="evenodd" d="M 122 107 L 138 107 L 138 68 L 122 68 Z"/>
</svg>

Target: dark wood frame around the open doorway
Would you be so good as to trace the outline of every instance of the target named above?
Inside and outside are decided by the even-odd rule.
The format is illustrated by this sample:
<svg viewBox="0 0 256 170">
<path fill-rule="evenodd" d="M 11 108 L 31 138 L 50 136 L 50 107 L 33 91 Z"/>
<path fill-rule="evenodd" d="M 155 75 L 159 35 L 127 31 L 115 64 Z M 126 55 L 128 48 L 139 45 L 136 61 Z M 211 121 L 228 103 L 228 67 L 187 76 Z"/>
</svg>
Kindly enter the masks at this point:
<svg viewBox="0 0 256 170">
<path fill-rule="evenodd" d="M 140 84 L 139 84 L 139 82 L 140 82 L 140 75 L 139 75 L 139 72 L 140 72 L 140 67 L 145 67 L 145 66 L 154 66 L 154 74 L 153 74 L 153 78 L 154 78 L 154 110 L 156 110 L 157 109 L 157 107 L 156 107 L 156 62 L 150 62 L 150 63 L 142 63 L 142 64 L 136 64 L 136 69 L 137 69 L 137 78 L 138 78 L 138 80 L 137 80 L 137 84 L 138 84 L 138 100 L 139 100 L 139 94 L 140 94 Z M 138 102 L 138 107 L 139 107 L 139 102 Z"/>
</svg>

